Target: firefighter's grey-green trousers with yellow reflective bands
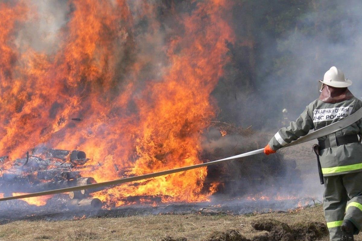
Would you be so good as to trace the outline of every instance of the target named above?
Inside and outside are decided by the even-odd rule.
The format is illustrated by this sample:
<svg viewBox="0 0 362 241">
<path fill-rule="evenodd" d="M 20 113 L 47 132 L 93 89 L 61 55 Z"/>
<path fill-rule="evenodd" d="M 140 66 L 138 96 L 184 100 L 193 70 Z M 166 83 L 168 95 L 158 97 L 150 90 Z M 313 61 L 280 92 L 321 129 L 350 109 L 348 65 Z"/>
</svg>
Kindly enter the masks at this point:
<svg viewBox="0 0 362 241">
<path fill-rule="evenodd" d="M 362 172 L 324 177 L 323 208 L 331 241 L 340 241 L 343 220 L 351 221 L 355 234 L 362 228 Z"/>
</svg>

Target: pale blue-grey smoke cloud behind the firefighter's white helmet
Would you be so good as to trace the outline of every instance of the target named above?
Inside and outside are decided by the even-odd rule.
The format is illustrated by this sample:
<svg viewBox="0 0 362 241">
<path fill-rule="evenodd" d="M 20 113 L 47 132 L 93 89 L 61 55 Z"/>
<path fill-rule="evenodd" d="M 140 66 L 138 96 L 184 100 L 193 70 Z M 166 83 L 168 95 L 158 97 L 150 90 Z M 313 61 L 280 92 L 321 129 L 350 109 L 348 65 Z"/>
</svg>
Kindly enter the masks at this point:
<svg viewBox="0 0 362 241">
<path fill-rule="evenodd" d="M 282 7 L 282 6 L 281 6 Z M 311 1 L 306 13 L 295 16 L 295 25 L 266 46 L 257 70 L 257 81 L 264 98 L 262 116 L 274 120 L 263 126 L 281 126 L 282 110 L 295 120 L 304 108 L 318 98 L 317 80 L 331 67 L 344 71 L 353 81 L 352 93 L 361 98 L 362 37 L 361 1 Z M 270 72 L 268 66 L 274 66 Z M 262 102 L 262 101 L 261 101 Z"/>
</svg>

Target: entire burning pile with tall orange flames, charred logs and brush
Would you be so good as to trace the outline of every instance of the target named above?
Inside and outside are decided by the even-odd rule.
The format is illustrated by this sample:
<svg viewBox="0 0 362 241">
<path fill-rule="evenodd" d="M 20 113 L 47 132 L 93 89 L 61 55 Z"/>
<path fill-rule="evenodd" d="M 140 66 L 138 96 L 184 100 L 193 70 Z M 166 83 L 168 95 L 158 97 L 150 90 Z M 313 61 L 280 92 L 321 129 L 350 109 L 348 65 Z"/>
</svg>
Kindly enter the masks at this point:
<svg viewBox="0 0 362 241">
<path fill-rule="evenodd" d="M 42 17 L 34 17 L 41 9 L 33 1 L 0 3 L 1 16 L 7 16 L 0 20 L 4 196 L 201 164 L 259 148 L 265 141 L 252 126 L 215 121 L 218 108 L 211 93 L 224 77 L 235 44 L 233 26 L 224 16 L 235 3 L 135 2 L 71 1 L 63 6 L 67 14 L 51 51 L 19 45 L 26 42 L 22 30 L 37 26 Z M 241 45 L 253 46 L 248 38 Z M 217 137 L 208 138 L 214 128 Z M 237 143 L 231 142 L 236 135 Z M 223 145 L 211 147 L 219 137 Z M 27 158 L 18 159 L 29 150 Z M 299 185 L 299 176 L 294 160 L 259 155 L 26 201 L 92 207 L 101 202 L 115 208 L 208 202 L 214 194 L 259 200 L 255 195 L 265 188 L 255 186 L 268 182 L 277 196 L 285 183 Z"/>
</svg>

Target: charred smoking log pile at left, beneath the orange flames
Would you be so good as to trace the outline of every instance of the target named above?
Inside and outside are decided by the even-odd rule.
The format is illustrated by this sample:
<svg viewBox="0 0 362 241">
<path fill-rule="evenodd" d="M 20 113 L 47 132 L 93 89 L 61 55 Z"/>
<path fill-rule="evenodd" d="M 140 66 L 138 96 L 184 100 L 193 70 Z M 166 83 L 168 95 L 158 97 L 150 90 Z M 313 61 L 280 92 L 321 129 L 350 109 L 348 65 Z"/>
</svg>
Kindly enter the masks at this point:
<svg viewBox="0 0 362 241">
<path fill-rule="evenodd" d="M 79 150 L 49 149 L 41 154 L 16 159 L 13 165 L 0 177 L 0 193 L 4 197 L 96 183 L 92 177 L 82 177 L 80 169 L 89 159 Z M 100 189 L 70 192 L 69 206 L 100 208 L 97 198 L 89 198 L 90 193 Z M 53 195 L 24 198 L 31 205 L 44 206 Z"/>
</svg>

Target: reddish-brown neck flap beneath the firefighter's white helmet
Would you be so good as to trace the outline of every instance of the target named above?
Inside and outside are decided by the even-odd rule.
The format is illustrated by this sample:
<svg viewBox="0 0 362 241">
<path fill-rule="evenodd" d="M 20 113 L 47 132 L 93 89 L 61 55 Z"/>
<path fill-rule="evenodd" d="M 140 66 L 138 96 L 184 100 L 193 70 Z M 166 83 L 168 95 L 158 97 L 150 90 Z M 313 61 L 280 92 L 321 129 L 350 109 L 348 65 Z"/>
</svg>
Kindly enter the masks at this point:
<svg viewBox="0 0 362 241">
<path fill-rule="evenodd" d="M 338 103 L 353 98 L 353 94 L 348 88 L 337 88 L 324 85 L 319 99 L 325 103 Z"/>
</svg>

